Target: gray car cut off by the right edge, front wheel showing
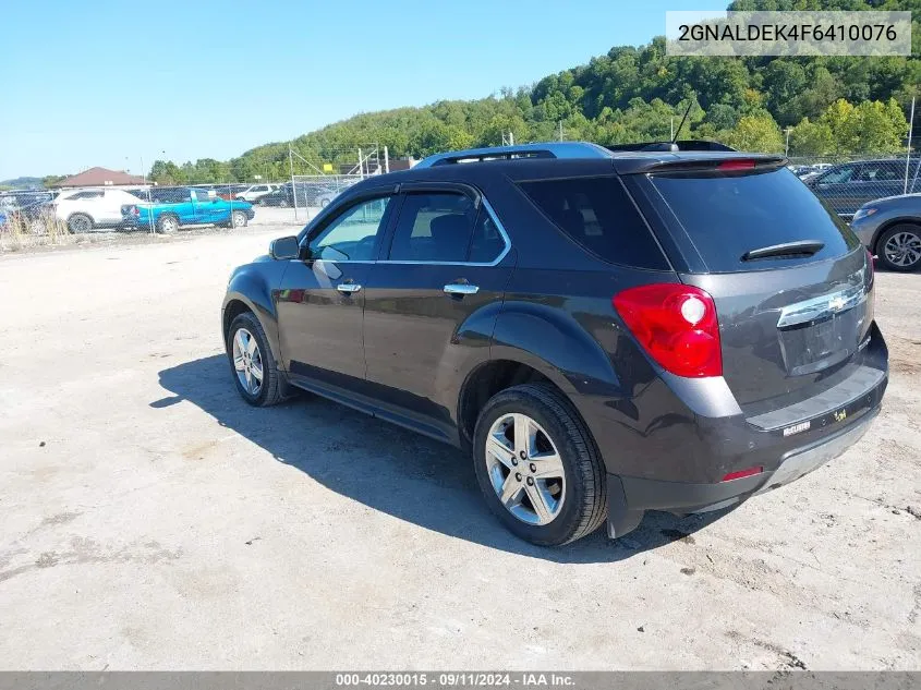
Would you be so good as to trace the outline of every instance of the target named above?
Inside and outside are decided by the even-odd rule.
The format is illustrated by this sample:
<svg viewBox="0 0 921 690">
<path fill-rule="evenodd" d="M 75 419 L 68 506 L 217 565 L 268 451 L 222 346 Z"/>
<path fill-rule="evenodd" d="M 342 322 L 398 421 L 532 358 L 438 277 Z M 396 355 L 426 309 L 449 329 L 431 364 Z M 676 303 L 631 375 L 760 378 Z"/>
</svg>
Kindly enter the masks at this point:
<svg viewBox="0 0 921 690">
<path fill-rule="evenodd" d="M 868 202 L 853 215 L 851 229 L 884 267 L 921 268 L 921 194 Z"/>
</svg>

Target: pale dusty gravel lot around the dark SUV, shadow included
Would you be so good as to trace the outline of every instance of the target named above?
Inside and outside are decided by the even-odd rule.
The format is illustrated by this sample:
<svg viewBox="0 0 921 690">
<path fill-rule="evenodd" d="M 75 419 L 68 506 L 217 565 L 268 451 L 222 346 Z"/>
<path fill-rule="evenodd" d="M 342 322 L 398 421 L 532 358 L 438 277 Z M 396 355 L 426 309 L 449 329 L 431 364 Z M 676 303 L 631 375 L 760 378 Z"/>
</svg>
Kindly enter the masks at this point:
<svg viewBox="0 0 921 690">
<path fill-rule="evenodd" d="M 451 448 L 239 399 L 223 288 L 284 233 L 0 256 L 0 666 L 921 666 L 921 275 L 878 276 L 892 382 L 844 457 L 546 550 Z"/>
</svg>

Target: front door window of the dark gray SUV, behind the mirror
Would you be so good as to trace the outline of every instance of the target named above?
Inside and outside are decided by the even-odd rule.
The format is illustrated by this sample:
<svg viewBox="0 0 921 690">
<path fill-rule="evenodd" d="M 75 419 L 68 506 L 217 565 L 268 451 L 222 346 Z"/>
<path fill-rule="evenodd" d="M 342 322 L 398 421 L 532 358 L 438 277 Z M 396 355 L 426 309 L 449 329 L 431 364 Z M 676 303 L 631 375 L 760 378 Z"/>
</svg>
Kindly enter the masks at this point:
<svg viewBox="0 0 921 690">
<path fill-rule="evenodd" d="M 344 210 L 311 239 L 311 257 L 328 261 L 373 261 L 389 196 L 367 199 Z"/>
</svg>

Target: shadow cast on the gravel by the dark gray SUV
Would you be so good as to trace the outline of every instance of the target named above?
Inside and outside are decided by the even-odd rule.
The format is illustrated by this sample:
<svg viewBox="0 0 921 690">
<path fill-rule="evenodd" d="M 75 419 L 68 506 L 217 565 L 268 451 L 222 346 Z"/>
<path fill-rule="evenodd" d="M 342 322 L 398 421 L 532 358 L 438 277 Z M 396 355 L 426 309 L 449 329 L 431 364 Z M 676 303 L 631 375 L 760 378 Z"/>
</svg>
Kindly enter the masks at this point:
<svg viewBox="0 0 921 690">
<path fill-rule="evenodd" d="M 469 458 L 445 444 L 317 396 L 275 408 L 252 408 L 238 395 L 226 356 L 216 354 L 159 373 L 171 395 L 155 409 L 189 401 L 222 426 L 298 468 L 324 486 L 401 520 L 449 536 L 556 562 L 614 562 L 691 534 L 727 510 L 679 518 L 647 512 L 627 536 L 604 529 L 574 544 L 545 548 L 506 531 L 483 503 Z M 355 471 L 355 460 L 366 463 Z"/>
</svg>

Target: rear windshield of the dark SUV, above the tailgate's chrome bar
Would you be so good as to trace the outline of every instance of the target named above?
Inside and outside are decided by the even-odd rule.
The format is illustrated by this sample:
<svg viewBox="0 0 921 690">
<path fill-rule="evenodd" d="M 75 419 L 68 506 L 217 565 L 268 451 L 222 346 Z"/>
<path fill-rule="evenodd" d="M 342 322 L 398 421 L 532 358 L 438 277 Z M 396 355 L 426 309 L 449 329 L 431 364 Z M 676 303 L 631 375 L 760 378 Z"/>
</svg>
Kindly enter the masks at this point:
<svg viewBox="0 0 921 690">
<path fill-rule="evenodd" d="M 847 254 L 857 237 L 786 168 L 769 172 L 658 173 L 649 178 L 714 273 L 786 268 Z M 752 250 L 814 240 L 812 256 L 742 261 Z"/>
</svg>

